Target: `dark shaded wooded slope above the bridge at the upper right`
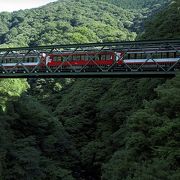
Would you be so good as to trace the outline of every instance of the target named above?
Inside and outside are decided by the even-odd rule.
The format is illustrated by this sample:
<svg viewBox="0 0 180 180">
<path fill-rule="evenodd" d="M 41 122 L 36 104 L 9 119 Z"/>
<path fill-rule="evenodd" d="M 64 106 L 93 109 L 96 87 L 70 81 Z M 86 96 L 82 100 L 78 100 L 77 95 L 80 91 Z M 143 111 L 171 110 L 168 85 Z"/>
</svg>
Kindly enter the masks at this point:
<svg viewBox="0 0 180 180">
<path fill-rule="evenodd" d="M 180 1 L 173 1 L 165 10 L 161 11 L 145 24 L 144 39 L 180 39 Z"/>
</svg>

